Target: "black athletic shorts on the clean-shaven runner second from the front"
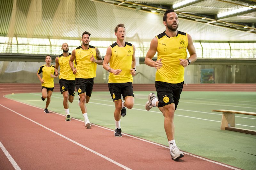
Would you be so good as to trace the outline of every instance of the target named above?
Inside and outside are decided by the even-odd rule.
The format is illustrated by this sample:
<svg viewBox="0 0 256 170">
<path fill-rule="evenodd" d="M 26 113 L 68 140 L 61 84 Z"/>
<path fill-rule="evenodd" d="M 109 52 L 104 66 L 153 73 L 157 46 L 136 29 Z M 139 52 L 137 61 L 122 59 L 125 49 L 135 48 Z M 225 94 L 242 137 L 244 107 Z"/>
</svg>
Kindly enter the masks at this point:
<svg viewBox="0 0 256 170">
<path fill-rule="evenodd" d="M 132 82 L 128 83 L 108 83 L 109 92 L 113 101 L 123 99 L 127 96 L 134 97 Z"/>
</svg>

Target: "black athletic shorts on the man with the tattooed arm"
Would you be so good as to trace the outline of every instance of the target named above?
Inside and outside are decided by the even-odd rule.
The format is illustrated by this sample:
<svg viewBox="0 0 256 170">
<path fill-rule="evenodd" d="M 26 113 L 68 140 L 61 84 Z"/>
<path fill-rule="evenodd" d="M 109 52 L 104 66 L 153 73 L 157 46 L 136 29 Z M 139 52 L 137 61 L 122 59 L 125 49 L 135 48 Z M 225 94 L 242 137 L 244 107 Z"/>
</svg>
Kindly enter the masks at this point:
<svg viewBox="0 0 256 170">
<path fill-rule="evenodd" d="M 86 93 L 86 96 L 91 97 L 93 87 L 93 78 L 76 78 L 76 90 L 78 95 Z"/>
</svg>

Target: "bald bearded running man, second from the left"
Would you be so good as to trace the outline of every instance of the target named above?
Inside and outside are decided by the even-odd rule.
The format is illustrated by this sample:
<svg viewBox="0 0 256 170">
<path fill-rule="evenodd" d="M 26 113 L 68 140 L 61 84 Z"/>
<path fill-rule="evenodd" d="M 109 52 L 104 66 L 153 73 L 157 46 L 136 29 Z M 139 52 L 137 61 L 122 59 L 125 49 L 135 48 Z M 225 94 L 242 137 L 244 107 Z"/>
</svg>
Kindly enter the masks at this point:
<svg viewBox="0 0 256 170">
<path fill-rule="evenodd" d="M 71 53 L 68 52 L 69 47 L 67 43 L 63 43 L 61 46 L 63 53 L 55 58 L 55 75 L 58 76 L 58 68 L 60 66 L 60 92 L 63 95 L 63 106 L 66 113 L 66 121 L 71 121 L 68 101 L 72 103 L 74 101 L 75 96 L 75 75 L 73 71 L 70 70 L 69 59 L 71 57 Z"/>
</svg>

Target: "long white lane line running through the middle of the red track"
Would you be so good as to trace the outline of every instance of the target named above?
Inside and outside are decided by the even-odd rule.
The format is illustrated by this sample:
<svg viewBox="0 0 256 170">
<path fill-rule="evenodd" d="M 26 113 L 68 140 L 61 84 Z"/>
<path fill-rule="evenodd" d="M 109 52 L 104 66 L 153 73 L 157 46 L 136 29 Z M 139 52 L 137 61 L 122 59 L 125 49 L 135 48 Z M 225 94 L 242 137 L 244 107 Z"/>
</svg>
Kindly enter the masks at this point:
<svg viewBox="0 0 256 170">
<path fill-rule="evenodd" d="M 92 153 L 94 153 L 94 154 L 100 156 L 101 158 L 104 158 L 104 159 L 108 160 L 109 162 L 111 162 L 111 163 L 113 163 L 113 164 L 116 164 L 117 166 L 120 166 L 120 167 L 122 167 L 122 168 L 124 168 L 124 169 L 127 169 L 127 170 L 131 170 L 131 169 L 128 168 L 127 166 L 124 166 L 124 165 L 122 165 L 122 164 L 120 164 L 120 163 L 114 161 L 113 159 L 110 159 L 110 158 L 108 158 L 108 157 L 106 157 L 106 156 L 100 154 L 99 152 L 96 152 L 96 151 L 94 151 L 94 150 L 92 150 L 92 149 L 90 149 L 90 148 L 88 148 L 88 147 L 86 147 L 86 146 L 84 146 L 84 145 L 82 145 L 82 144 L 79 144 L 78 142 L 76 142 L 76 141 L 74 141 L 74 140 L 72 140 L 72 139 L 70 139 L 70 138 L 68 138 L 68 137 L 66 137 L 66 136 L 64 136 L 64 135 L 61 135 L 60 133 L 58 133 L 58 132 L 56 132 L 56 131 L 54 131 L 54 130 L 52 130 L 52 129 L 50 129 L 50 128 L 47 128 L 46 126 L 44 126 L 44 125 L 42 125 L 42 124 L 40 124 L 40 123 L 38 123 L 38 122 L 36 122 L 36 121 L 33 121 L 32 119 L 29 119 L 28 117 L 26 117 L 26 116 L 24 116 L 24 115 L 21 115 L 20 113 L 15 112 L 14 110 L 12 110 L 12 109 L 10 109 L 10 108 L 8 108 L 8 107 L 5 107 L 5 106 L 3 106 L 2 104 L 0 104 L 0 106 L 2 106 L 2 107 L 4 107 L 4 108 L 6 108 L 6 109 L 12 111 L 13 113 L 16 113 L 17 115 L 20 115 L 21 117 L 24 117 L 25 119 L 28 119 L 29 121 L 31 121 L 31 122 L 33 122 L 33 123 L 36 123 L 37 125 L 43 127 L 44 129 L 47 129 L 47 130 L 49 130 L 49 131 L 55 133 L 56 135 L 59 135 L 60 137 L 63 137 L 64 139 L 67 139 L 67 140 L 70 141 L 70 142 L 73 142 L 74 144 L 77 144 L 78 146 L 80 146 L 80 147 L 82 147 L 82 148 L 84 148 L 84 149 L 86 149 L 86 150 L 88 150 L 88 151 L 90 151 L 90 152 L 92 152 Z"/>
</svg>

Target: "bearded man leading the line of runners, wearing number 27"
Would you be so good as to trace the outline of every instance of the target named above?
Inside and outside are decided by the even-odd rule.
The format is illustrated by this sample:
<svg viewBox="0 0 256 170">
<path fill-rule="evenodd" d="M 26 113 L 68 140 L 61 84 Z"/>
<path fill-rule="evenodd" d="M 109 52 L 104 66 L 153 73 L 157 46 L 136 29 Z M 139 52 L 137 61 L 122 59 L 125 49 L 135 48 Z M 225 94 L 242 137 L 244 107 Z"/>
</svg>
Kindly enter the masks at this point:
<svg viewBox="0 0 256 170">
<path fill-rule="evenodd" d="M 196 50 L 189 34 L 177 30 L 179 19 L 174 10 L 164 13 L 163 23 L 166 31 L 151 41 L 145 58 L 145 64 L 155 67 L 156 92 L 148 95 L 146 110 L 158 107 L 164 115 L 164 129 L 168 139 L 170 154 L 173 160 L 184 156 L 174 140 L 174 112 L 180 99 L 184 84 L 184 68 L 196 61 Z M 187 58 L 187 50 L 189 57 Z M 152 58 L 157 51 L 157 61 Z"/>
</svg>

